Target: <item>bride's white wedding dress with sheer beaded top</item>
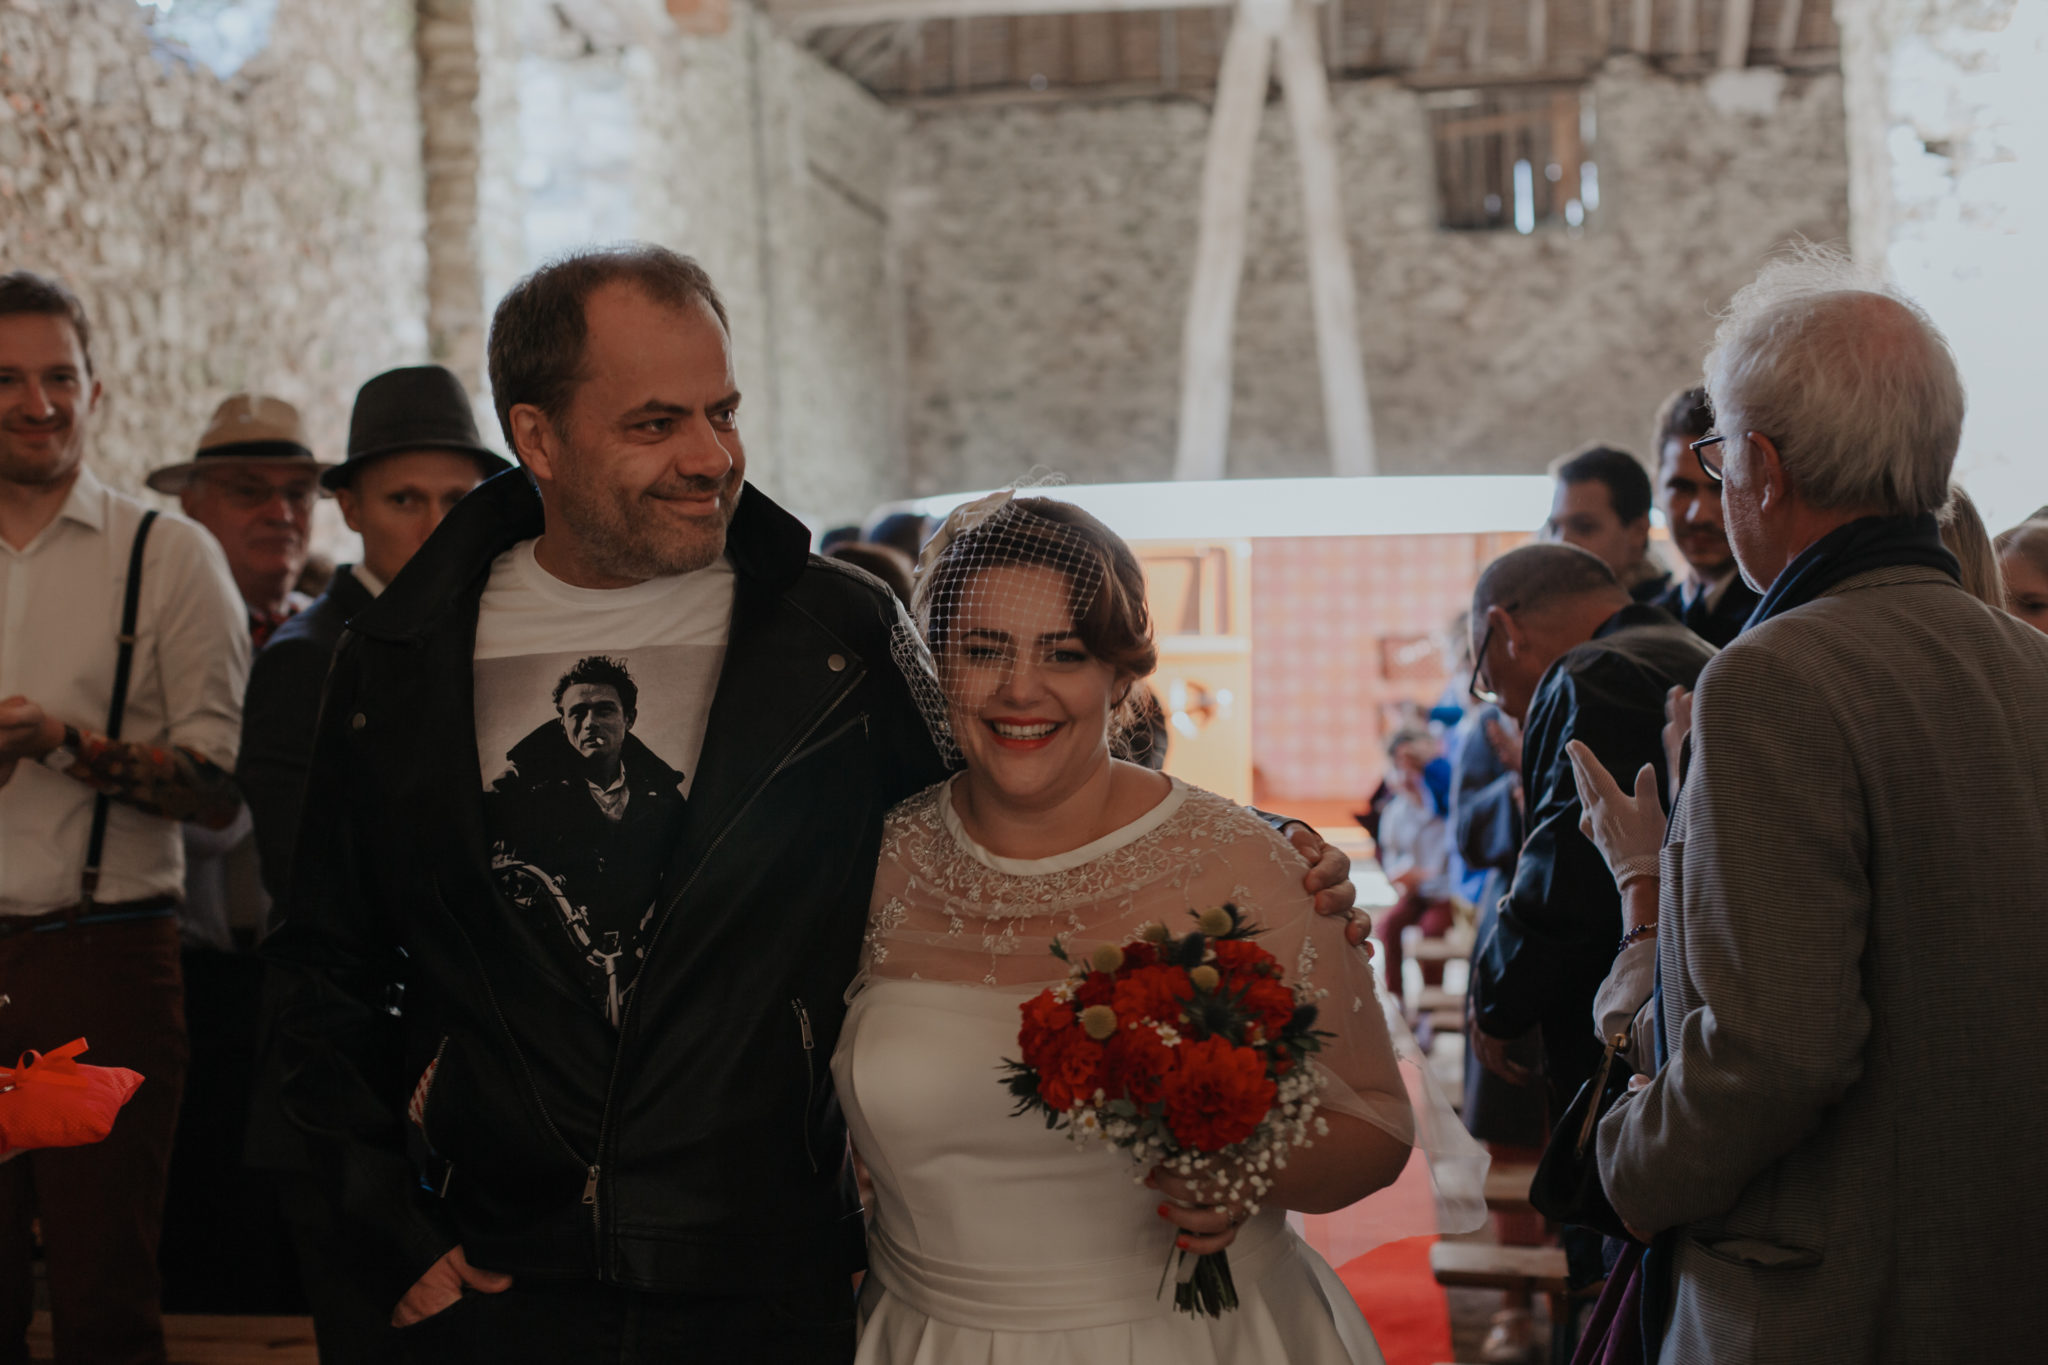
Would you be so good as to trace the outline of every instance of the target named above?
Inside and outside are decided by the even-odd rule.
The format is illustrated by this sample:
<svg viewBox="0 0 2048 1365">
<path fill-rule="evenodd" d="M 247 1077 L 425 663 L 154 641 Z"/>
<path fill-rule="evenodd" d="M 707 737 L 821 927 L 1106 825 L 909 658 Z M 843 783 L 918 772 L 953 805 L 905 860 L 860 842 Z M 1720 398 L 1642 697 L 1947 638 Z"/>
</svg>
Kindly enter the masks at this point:
<svg viewBox="0 0 2048 1365">
<path fill-rule="evenodd" d="M 1018 1005 L 1077 952 L 1176 933 L 1233 902 L 1335 1033 L 1327 1111 L 1413 1142 L 1366 954 L 1313 913 L 1294 849 L 1239 806 L 1174 784 L 1139 821 L 1061 857 L 1006 860 L 961 827 L 950 784 L 891 812 L 860 980 L 831 1060 L 872 1179 L 860 1365 L 1362 1365 L 1380 1353 L 1335 1273 L 1280 1209 L 1231 1246 L 1241 1306 L 1174 1312 L 1176 1228 L 1124 1152 L 1012 1117 L 999 1064 Z M 1370 1203 L 1370 1201 L 1368 1201 Z M 1425 1232 L 1434 1228 L 1409 1228 Z"/>
</svg>

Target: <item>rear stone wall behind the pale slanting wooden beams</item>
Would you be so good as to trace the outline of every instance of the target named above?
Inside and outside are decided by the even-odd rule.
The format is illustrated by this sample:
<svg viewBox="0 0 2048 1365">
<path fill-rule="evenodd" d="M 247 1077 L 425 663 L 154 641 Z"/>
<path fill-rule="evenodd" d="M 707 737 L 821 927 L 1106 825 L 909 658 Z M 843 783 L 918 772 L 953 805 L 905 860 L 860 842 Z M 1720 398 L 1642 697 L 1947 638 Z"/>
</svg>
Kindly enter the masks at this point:
<svg viewBox="0 0 2048 1365">
<path fill-rule="evenodd" d="M 1528 473 L 1587 440 L 1640 450 L 1759 258 L 1794 233 L 1845 237 L 1839 78 L 1749 72 L 1710 94 L 1616 59 L 1591 94 L 1599 209 L 1583 233 L 1524 237 L 1436 227 L 1417 94 L 1391 80 L 1333 90 L 1382 473 Z M 1034 465 L 1169 477 L 1206 123 L 1192 102 L 1120 102 L 913 125 L 891 205 L 913 491 Z M 1298 196 L 1274 102 L 1231 475 L 1329 471 Z"/>
</svg>

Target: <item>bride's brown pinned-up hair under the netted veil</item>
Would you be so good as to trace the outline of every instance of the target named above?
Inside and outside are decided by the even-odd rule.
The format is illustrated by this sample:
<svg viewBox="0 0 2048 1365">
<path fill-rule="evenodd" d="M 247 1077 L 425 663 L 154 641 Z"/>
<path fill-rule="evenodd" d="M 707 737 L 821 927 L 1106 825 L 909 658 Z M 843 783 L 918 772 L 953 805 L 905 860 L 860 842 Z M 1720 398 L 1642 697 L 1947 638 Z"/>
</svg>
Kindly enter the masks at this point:
<svg viewBox="0 0 2048 1365">
<path fill-rule="evenodd" d="M 1159 647 L 1153 643 L 1151 608 L 1145 606 L 1145 569 L 1122 536 L 1073 503 L 1053 497 L 1012 497 L 1001 510 L 969 532 L 963 532 L 938 563 L 926 589 L 930 616 L 924 622 L 932 657 L 946 653 L 952 610 L 967 579 L 987 569 L 1053 569 L 1067 575 L 1073 593 L 1073 565 L 1081 559 L 1100 585 L 1087 602 L 1071 602 L 1073 632 L 1096 659 L 1116 673 L 1122 690 L 1116 696 L 1112 729 L 1120 720 L 1130 692 L 1141 677 L 1159 667 Z"/>
</svg>

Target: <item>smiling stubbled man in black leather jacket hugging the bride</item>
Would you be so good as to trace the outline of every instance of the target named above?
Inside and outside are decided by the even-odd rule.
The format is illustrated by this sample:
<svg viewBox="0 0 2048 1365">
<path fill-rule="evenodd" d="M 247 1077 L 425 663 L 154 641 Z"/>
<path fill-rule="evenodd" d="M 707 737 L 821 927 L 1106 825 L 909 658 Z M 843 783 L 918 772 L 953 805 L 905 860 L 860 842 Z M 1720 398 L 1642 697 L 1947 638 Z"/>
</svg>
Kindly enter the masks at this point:
<svg viewBox="0 0 2048 1365">
<path fill-rule="evenodd" d="M 268 943 L 287 1111 L 387 1269 L 401 1359 L 848 1361 L 862 1222 L 827 1064 L 883 814 L 944 776 L 891 659 L 901 608 L 745 483 L 694 262 L 543 266 L 489 366 L 522 469 L 455 508 L 328 679 Z M 647 841 L 616 1021 L 580 945 L 500 890 L 477 741 L 532 729 L 481 677 L 590 655 L 633 661 L 688 788 Z M 1341 853 L 1296 845 L 1348 913 Z"/>
</svg>

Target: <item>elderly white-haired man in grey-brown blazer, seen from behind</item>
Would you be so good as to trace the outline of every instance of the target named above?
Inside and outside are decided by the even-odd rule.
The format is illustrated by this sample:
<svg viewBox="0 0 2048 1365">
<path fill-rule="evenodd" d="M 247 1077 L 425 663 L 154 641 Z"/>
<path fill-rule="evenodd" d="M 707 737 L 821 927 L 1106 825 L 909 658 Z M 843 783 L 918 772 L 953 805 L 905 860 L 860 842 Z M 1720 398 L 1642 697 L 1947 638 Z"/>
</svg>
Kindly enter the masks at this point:
<svg viewBox="0 0 2048 1365">
<path fill-rule="evenodd" d="M 2040 1359 L 2048 639 L 1942 548 L 1956 362 L 1806 250 L 1735 297 L 1706 383 L 1763 602 L 1700 675 L 1661 857 L 1602 839 L 1659 882 L 1659 1066 L 1597 1134 L 1657 1238 L 1645 1322 L 1663 1361 Z"/>
</svg>

